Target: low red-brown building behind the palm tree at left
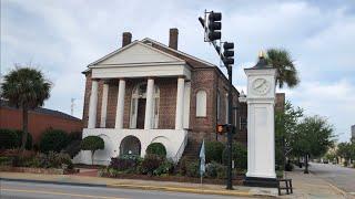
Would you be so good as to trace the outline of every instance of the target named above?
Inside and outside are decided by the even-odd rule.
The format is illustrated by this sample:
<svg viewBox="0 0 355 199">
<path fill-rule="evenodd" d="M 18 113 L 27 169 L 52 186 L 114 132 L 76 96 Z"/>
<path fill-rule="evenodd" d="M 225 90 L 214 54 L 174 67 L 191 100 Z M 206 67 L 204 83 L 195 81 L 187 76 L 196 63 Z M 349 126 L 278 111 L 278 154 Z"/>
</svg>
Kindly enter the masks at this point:
<svg viewBox="0 0 355 199">
<path fill-rule="evenodd" d="M 50 127 L 68 133 L 81 132 L 82 121 L 62 112 L 42 107 L 29 111 L 29 133 L 32 135 L 33 144 L 37 144 L 41 134 Z M 0 128 L 22 129 L 22 111 L 2 100 L 0 101 Z"/>
</svg>

